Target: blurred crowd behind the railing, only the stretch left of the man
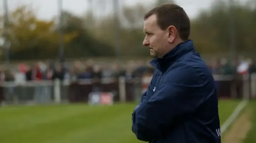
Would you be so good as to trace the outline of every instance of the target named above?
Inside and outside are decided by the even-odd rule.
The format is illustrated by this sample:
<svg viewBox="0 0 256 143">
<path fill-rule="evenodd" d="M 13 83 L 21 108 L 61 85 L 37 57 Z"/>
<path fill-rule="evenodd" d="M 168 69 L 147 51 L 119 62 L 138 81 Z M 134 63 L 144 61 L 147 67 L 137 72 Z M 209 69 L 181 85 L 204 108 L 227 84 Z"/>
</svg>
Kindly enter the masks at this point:
<svg viewBox="0 0 256 143">
<path fill-rule="evenodd" d="M 86 62 L 37 62 L 32 65 L 19 64 L 14 70 L 0 69 L 1 81 L 40 81 L 40 80 L 83 80 L 102 78 L 139 78 L 153 74 L 154 68 L 144 61 L 129 61 L 126 64 Z"/>
</svg>

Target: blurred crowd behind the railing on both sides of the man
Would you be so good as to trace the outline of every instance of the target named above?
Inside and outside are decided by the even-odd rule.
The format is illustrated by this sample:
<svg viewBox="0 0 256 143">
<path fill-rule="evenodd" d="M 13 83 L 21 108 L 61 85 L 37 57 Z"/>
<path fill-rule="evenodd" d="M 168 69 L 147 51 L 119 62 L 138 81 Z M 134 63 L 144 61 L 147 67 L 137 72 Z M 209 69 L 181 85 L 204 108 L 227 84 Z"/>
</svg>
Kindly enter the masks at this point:
<svg viewBox="0 0 256 143">
<path fill-rule="evenodd" d="M 234 74 L 235 72 L 256 72 L 256 65 L 250 59 L 240 58 L 237 61 L 228 59 L 213 59 L 207 62 L 212 74 Z M 19 64 L 15 69 L 0 69 L 0 81 L 40 81 L 40 80 L 80 80 L 102 78 L 126 79 L 151 76 L 154 68 L 148 61 L 128 61 L 127 63 L 96 63 L 93 60 L 85 62 L 37 62 L 32 65 Z"/>
</svg>

